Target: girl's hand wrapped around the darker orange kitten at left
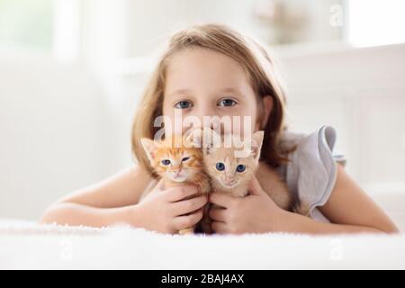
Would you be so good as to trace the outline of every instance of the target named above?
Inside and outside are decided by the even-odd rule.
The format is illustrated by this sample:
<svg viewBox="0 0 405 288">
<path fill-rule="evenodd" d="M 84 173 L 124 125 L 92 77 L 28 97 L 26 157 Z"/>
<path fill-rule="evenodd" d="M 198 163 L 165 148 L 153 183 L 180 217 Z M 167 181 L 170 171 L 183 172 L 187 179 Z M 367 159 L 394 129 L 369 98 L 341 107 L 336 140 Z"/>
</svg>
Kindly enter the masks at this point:
<svg viewBox="0 0 405 288">
<path fill-rule="evenodd" d="M 196 186 L 185 184 L 165 190 L 163 181 L 159 181 L 155 189 L 134 206 L 133 225 L 170 234 L 195 225 L 202 219 L 202 209 L 208 198 L 206 195 L 184 198 L 197 192 Z"/>
</svg>

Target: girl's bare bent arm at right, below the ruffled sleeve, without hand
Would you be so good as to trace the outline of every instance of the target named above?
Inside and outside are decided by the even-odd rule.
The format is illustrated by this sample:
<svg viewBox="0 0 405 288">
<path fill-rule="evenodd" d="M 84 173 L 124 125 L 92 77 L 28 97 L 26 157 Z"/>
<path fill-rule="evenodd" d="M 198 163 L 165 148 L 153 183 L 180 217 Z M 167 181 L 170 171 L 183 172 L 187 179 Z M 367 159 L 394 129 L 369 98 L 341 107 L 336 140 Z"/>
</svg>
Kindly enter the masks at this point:
<svg viewBox="0 0 405 288">
<path fill-rule="evenodd" d="M 331 223 L 288 213 L 286 217 L 293 223 L 290 229 L 307 233 L 398 232 L 392 220 L 339 164 L 335 188 L 320 211 Z"/>
</svg>

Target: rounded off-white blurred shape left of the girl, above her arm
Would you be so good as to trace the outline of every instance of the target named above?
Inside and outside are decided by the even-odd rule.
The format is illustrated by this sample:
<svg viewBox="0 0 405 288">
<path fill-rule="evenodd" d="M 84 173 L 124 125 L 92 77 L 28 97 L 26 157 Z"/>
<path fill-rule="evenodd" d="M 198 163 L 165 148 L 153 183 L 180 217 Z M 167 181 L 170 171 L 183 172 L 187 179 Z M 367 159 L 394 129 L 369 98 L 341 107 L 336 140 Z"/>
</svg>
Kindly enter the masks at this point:
<svg viewBox="0 0 405 288">
<path fill-rule="evenodd" d="M 38 218 L 50 202 L 122 165 L 111 107 L 82 67 L 0 58 L 0 217 Z"/>
</svg>

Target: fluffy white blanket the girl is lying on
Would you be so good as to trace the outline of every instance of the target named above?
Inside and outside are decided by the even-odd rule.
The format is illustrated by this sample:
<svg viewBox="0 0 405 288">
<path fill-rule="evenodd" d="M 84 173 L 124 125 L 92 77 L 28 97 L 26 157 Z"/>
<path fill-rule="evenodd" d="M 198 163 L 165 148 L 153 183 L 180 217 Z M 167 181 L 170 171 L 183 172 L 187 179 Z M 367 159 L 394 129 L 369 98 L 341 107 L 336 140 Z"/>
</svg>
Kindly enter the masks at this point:
<svg viewBox="0 0 405 288">
<path fill-rule="evenodd" d="M 405 236 L 170 236 L 0 221 L 0 269 L 405 268 Z"/>
</svg>

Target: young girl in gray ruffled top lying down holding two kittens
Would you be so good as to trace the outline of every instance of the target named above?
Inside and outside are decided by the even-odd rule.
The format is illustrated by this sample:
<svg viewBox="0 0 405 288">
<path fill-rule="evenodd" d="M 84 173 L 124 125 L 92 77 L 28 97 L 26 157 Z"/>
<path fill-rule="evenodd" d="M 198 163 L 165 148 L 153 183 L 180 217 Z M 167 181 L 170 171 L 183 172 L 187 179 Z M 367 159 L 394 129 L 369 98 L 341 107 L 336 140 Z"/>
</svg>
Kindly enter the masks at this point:
<svg viewBox="0 0 405 288">
<path fill-rule="evenodd" d="M 176 233 L 202 219 L 207 202 L 216 233 L 393 233 L 385 213 L 347 175 L 344 158 L 333 152 L 335 130 L 310 135 L 284 126 L 284 93 L 272 58 L 257 42 L 228 27 L 208 24 L 179 31 L 170 39 L 151 76 L 133 123 L 132 149 L 139 164 L 67 195 L 43 215 L 43 222 L 102 227 L 133 227 Z M 193 185 L 165 189 L 162 181 L 139 202 L 154 174 L 140 145 L 153 139 L 157 116 L 251 116 L 253 131 L 265 130 L 261 160 L 275 169 L 288 190 L 310 206 L 311 217 L 275 205 L 253 178 L 249 195 L 212 193 L 191 198 Z"/>
</svg>

